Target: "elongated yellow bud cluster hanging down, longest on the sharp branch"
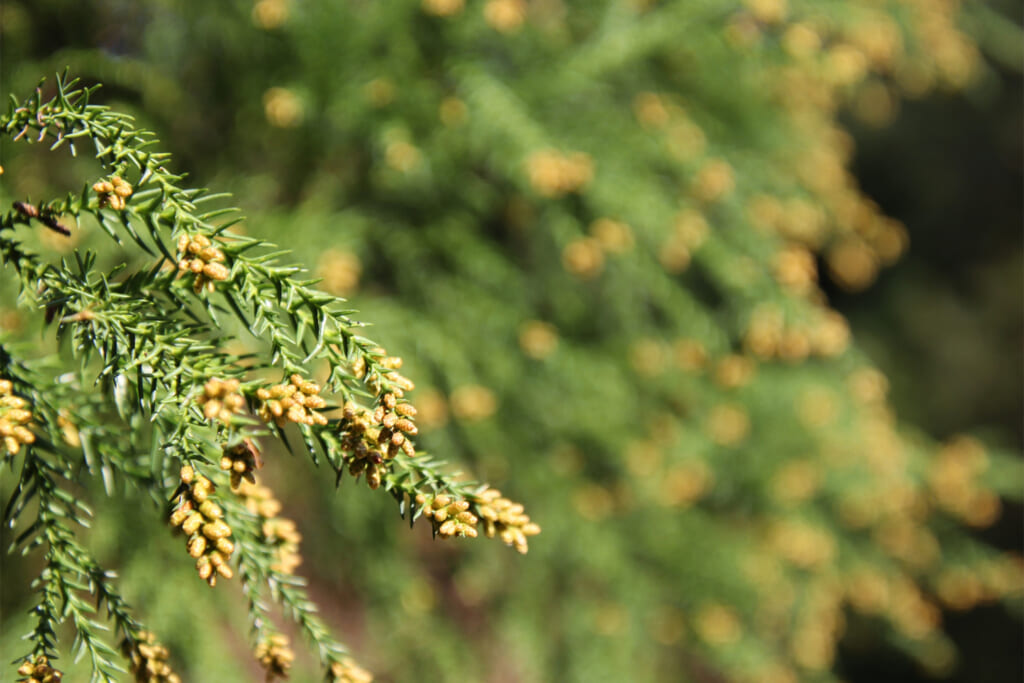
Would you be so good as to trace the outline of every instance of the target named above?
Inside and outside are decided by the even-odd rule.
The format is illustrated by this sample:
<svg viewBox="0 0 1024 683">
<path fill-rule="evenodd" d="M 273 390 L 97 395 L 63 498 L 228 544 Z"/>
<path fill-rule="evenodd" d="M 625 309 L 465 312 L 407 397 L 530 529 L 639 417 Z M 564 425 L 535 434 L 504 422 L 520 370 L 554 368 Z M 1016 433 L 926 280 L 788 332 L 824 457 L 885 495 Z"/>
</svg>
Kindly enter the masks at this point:
<svg viewBox="0 0 1024 683">
<path fill-rule="evenodd" d="M 188 537 L 188 554 L 196 559 L 199 577 L 211 587 L 217 585 L 217 574 L 233 575 L 227 558 L 234 552 L 228 540 L 231 527 L 222 519 L 224 511 L 213 502 L 213 482 L 188 465 L 181 468 L 181 485 L 175 498 L 178 506 L 171 513 L 171 524 L 180 526 Z"/>
</svg>

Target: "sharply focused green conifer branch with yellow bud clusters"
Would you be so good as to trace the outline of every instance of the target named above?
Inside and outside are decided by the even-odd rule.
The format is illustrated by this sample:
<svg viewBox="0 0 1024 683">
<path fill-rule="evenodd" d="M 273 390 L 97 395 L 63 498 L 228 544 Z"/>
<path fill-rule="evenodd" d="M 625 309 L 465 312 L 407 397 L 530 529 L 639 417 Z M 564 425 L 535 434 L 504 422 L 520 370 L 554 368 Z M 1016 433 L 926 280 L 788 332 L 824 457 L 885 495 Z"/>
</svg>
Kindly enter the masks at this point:
<svg viewBox="0 0 1024 683">
<path fill-rule="evenodd" d="M 313 463 L 326 460 L 339 482 L 346 471 L 366 474 L 411 522 L 426 512 L 444 537 L 475 537 L 482 520 L 488 536 L 525 552 L 526 537 L 540 529 L 522 506 L 458 479 L 417 451 L 416 410 L 407 398 L 414 385 L 397 372 L 400 359 L 358 334 L 343 300 L 303 280 L 301 267 L 283 265 L 287 252 L 231 231 L 241 218 L 217 207 L 223 196 L 182 186 L 182 176 L 167 169 L 168 156 L 150 151 L 153 135 L 90 103 L 94 91 L 58 78 L 52 99 L 44 101 L 41 86 L 0 118 L 15 141 L 48 141 L 51 151 L 67 145 L 72 155 L 91 142 L 102 167 L 81 193 L 16 202 L 0 217 L 0 255 L 18 276 L 19 304 L 55 326 L 58 344 L 58 355 L 46 358 L 59 366 L 51 382 L 0 346 L 0 378 L 23 430 L 22 440 L 4 446 L 5 461 L 23 461 L 5 522 L 25 525 L 34 501 L 37 518 L 15 546 L 45 548 L 32 655 L 56 656 L 56 625 L 67 620 L 93 681 L 124 671 L 80 597 L 88 593 L 105 607 L 137 680 L 150 680 L 140 678 L 145 669 L 177 680 L 166 648 L 131 615 L 113 574 L 76 540 L 74 526 L 86 526 L 90 512 L 70 489 L 101 477 L 108 493 L 124 482 L 162 505 L 170 500 L 171 523 L 188 537 L 188 554 L 211 586 L 237 567 L 253 645 L 269 677 L 287 674 L 292 655 L 261 599 L 264 590 L 313 644 L 328 680 L 359 680 L 364 672 L 291 573 L 297 540 L 288 541 L 294 561 L 282 562 L 282 540 L 266 526 L 276 519 L 266 507 L 272 498 L 247 507 L 260 490 L 260 438 L 291 449 L 288 433 L 297 429 Z M 94 224 L 141 253 L 126 253 L 128 260 L 111 269 L 91 252 L 53 263 L 18 238 L 18 229 L 36 224 L 65 234 L 69 221 L 78 229 Z M 233 328 L 265 347 L 225 350 L 233 340 L 225 331 Z M 323 385 L 307 379 L 316 362 L 327 367 Z M 266 384 L 267 373 L 287 380 Z"/>
</svg>

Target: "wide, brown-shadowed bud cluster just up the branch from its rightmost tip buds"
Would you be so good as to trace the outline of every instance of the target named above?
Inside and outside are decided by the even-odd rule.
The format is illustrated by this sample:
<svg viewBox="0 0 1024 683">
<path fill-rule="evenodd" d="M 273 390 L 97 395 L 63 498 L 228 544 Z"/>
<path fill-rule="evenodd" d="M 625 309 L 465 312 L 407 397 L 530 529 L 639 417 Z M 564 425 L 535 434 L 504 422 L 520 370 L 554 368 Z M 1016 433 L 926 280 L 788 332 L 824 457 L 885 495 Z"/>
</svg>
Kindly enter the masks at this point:
<svg viewBox="0 0 1024 683">
<path fill-rule="evenodd" d="M 373 413 L 351 401 L 345 403 L 340 434 L 341 447 L 349 454 L 349 474 L 357 477 L 366 472 L 370 487 L 377 488 L 385 460 L 399 452 L 414 457 L 416 449 L 409 437 L 419 431 L 412 420 L 415 415 L 416 409 L 410 403 L 399 403 L 392 392 L 381 397 Z"/>
</svg>

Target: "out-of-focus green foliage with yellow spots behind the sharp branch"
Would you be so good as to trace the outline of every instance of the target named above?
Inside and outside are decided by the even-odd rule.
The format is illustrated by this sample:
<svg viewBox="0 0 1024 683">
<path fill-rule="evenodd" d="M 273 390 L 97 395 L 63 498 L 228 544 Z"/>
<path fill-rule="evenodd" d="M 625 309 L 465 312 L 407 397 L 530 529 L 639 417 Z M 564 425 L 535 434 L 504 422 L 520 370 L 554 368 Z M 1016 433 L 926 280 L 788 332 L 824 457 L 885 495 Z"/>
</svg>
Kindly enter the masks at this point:
<svg viewBox="0 0 1024 683">
<path fill-rule="evenodd" d="M 1019 611 L 1019 558 L 965 525 L 1021 497 L 1020 462 L 896 422 L 817 271 L 869 335 L 879 300 L 858 313 L 841 290 L 905 231 L 846 170 L 838 118 L 880 127 L 905 95 L 992 87 L 961 30 L 1007 59 L 1019 36 L 957 5 L 9 0 L 3 89 L 66 67 L 101 82 L 375 324 L 419 385 L 421 442 L 541 522 L 524 558 L 432 542 L 384 497 L 269 454 L 300 571 L 379 680 L 829 681 L 848 622 L 944 674 L 940 606 Z M 94 179 L 0 152 L 7 204 Z M 927 220 L 900 217 L 911 236 Z M 901 296 L 887 316 L 927 314 L 930 291 Z M 13 302 L 0 315 L 39 334 Z M 948 352 L 930 368 L 975 357 Z M 950 437 L 949 409 L 931 415 Z M 237 587 L 198 582 L 147 502 L 95 500 L 93 548 L 186 680 L 259 676 Z M 4 567 L 8 659 L 33 568 Z"/>
</svg>

